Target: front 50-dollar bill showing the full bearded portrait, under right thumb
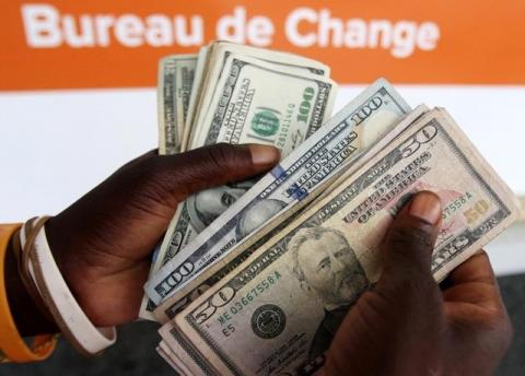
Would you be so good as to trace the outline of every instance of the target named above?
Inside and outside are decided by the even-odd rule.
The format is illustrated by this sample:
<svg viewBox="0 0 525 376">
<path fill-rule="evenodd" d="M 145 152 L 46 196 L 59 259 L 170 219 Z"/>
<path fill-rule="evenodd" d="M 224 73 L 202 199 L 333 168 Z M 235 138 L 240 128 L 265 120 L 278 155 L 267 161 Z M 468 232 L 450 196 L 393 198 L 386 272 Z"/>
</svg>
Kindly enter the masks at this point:
<svg viewBox="0 0 525 376">
<path fill-rule="evenodd" d="M 201 373 L 313 374 L 348 310 L 378 281 L 389 224 L 421 190 L 443 203 L 436 281 L 518 213 L 454 120 L 433 109 L 177 315 L 178 344 L 200 355 Z"/>
</svg>

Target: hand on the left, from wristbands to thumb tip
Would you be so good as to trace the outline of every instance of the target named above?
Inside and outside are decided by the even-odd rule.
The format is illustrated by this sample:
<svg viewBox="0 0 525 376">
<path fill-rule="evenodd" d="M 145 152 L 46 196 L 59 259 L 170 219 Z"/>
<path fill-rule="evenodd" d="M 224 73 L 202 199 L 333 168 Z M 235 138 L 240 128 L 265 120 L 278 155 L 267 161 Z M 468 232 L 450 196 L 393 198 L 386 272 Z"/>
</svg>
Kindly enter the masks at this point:
<svg viewBox="0 0 525 376">
<path fill-rule="evenodd" d="M 150 152 L 50 219 L 49 246 L 93 324 L 114 326 L 137 317 L 150 252 L 179 202 L 192 192 L 261 174 L 278 161 L 277 149 L 255 144 L 163 156 Z"/>
</svg>

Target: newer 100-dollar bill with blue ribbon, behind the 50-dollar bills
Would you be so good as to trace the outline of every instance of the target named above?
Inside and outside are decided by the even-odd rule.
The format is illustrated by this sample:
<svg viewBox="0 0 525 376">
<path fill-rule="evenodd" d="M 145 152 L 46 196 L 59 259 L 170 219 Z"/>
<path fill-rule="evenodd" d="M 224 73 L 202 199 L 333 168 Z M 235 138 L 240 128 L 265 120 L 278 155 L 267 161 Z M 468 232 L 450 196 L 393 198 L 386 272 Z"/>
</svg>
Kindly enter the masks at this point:
<svg viewBox="0 0 525 376">
<path fill-rule="evenodd" d="M 385 80 L 376 81 L 151 277 L 148 296 L 158 305 L 265 223 L 292 215 L 409 111 Z"/>
</svg>

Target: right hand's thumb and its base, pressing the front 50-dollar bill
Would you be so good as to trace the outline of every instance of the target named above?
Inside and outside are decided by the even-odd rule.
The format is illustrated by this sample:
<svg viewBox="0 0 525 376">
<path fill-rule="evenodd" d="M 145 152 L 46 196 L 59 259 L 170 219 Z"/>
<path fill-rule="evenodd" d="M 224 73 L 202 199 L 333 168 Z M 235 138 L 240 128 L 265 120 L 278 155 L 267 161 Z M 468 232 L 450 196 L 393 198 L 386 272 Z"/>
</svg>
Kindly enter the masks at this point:
<svg viewBox="0 0 525 376">
<path fill-rule="evenodd" d="M 382 277 L 339 328 L 326 374 L 346 375 L 349 364 L 359 375 L 443 373 L 446 327 L 442 297 L 430 272 L 441 215 L 439 197 L 423 191 L 395 218 L 383 244 Z"/>
</svg>

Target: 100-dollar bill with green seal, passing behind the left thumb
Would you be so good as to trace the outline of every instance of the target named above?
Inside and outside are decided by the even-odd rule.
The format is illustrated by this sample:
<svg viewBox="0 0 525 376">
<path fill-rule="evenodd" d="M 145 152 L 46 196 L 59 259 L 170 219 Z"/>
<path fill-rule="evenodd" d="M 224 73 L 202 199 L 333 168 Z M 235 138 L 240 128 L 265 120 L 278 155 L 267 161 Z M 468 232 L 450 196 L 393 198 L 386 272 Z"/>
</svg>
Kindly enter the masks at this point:
<svg viewBox="0 0 525 376">
<path fill-rule="evenodd" d="M 275 145 L 281 150 L 281 157 L 285 157 L 331 115 L 337 85 L 328 78 L 234 54 L 226 59 L 224 69 L 218 83 L 221 91 L 212 102 L 214 109 L 203 127 L 206 132 L 200 139 L 194 139 L 192 146 L 254 142 Z M 273 87 L 287 90 L 275 91 Z M 180 204 L 168 226 L 153 272 L 253 184 L 249 180 L 208 189 Z M 153 304 L 149 304 L 147 309 L 152 307 Z"/>
</svg>

